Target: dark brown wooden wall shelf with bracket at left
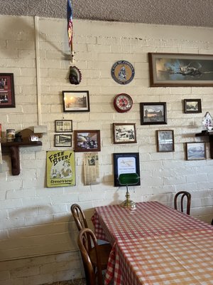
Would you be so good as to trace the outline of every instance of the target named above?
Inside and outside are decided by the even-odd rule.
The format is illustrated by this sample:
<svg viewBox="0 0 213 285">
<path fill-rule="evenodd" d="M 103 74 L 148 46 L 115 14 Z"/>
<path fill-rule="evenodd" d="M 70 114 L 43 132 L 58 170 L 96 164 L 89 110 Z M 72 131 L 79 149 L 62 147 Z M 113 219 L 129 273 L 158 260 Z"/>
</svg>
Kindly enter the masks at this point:
<svg viewBox="0 0 213 285">
<path fill-rule="evenodd" d="M 38 145 L 42 145 L 42 142 L 1 142 L 2 149 L 9 147 L 11 153 L 12 175 L 19 175 L 20 173 L 19 147 L 35 147 Z"/>
</svg>

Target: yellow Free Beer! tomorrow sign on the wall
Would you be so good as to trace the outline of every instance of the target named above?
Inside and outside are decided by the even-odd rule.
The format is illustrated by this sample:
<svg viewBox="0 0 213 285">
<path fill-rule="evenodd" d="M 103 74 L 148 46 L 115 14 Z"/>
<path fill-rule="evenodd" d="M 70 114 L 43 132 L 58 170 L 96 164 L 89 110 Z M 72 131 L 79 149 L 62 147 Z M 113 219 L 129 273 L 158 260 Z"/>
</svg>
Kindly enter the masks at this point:
<svg viewBox="0 0 213 285">
<path fill-rule="evenodd" d="M 47 187 L 75 185 L 75 152 L 47 151 Z"/>
</svg>

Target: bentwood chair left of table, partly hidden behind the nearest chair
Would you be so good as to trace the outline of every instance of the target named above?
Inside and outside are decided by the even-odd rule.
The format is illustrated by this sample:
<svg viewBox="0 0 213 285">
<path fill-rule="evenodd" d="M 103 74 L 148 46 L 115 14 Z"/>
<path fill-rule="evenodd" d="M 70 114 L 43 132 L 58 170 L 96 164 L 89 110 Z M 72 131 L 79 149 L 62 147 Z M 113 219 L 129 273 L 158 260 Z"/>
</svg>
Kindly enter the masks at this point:
<svg viewBox="0 0 213 285">
<path fill-rule="evenodd" d="M 82 208 L 80 207 L 80 205 L 79 204 L 72 204 L 70 209 L 72 212 L 72 216 L 75 219 L 75 224 L 77 225 L 77 229 L 79 230 L 79 232 L 81 232 L 83 229 L 88 229 L 87 220 L 85 218 L 84 212 L 82 211 Z M 94 235 L 94 233 L 93 233 L 93 235 Z M 83 238 L 83 236 L 84 236 L 84 234 L 81 234 L 81 239 Z M 89 235 L 88 235 L 88 237 L 89 237 Z M 95 235 L 94 235 L 94 237 L 95 237 Z M 80 237 L 78 237 L 78 240 L 79 239 L 80 239 Z M 95 240 L 97 241 L 96 237 L 95 237 Z M 88 248 L 89 248 L 89 252 L 88 252 L 89 259 L 91 260 L 92 264 L 94 266 L 96 266 L 96 264 L 97 264 L 96 247 L 94 247 L 92 249 L 92 242 L 91 241 L 93 241 L 93 237 L 87 239 L 87 244 L 88 244 Z M 109 254 L 111 252 L 111 244 L 99 244 L 98 249 L 99 249 L 99 254 L 102 257 L 102 261 L 101 261 L 102 270 L 107 269 Z M 90 282 L 89 281 L 90 280 L 90 277 L 89 277 L 90 276 L 90 269 L 88 271 L 87 262 L 85 262 L 84 260 L 85 260 L 85 257 L 82 256 L 82 261 L 84 264 L 84 271 L 85 271 L 85 276 L 86 276 L 86 280 L 87 280 L 87 285 L 90 285 L 90 283 L 89 283 Z"/>
</svg>

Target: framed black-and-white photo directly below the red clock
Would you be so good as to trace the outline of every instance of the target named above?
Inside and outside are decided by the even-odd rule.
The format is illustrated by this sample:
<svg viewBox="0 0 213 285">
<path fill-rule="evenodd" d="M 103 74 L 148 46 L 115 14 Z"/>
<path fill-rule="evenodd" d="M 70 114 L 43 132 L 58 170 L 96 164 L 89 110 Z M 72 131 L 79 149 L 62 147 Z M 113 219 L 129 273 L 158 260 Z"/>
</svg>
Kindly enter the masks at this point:
<svg viewBox="0 0 213 285">
<path fill-rule="evenodd" d="M 136 124 L 132 123 L 114 123 L 113 124 L 114 143 L 135 143 Z"/>
</svg>

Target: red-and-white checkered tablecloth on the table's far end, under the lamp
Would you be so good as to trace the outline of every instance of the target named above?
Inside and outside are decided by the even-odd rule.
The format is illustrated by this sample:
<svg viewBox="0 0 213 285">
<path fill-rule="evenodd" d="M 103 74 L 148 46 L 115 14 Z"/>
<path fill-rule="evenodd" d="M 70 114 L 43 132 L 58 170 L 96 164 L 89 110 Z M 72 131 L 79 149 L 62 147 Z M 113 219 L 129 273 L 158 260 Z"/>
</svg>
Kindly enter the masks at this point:
<svg viewBox="0 0 213 285">
<path fill-rule="evenodd" d="M 168 234 L 212 230 L 211 225 L 159 202 L 137 203 L 133 211 L 119 205 L 97 207 L 94 210 L 92 222 L 97 238 L 108 240 L 113 245 L 107 266 L 106 285 L 112 278 L 114 278 L 114 284 L 123 284 L 121 276 L 124 272 L 121 274 L 119 242 L 125 243 L 128 240 L 137 242 L 141 237 L 153 239 L 153 237 Z"/>
</svg>

